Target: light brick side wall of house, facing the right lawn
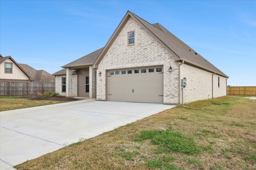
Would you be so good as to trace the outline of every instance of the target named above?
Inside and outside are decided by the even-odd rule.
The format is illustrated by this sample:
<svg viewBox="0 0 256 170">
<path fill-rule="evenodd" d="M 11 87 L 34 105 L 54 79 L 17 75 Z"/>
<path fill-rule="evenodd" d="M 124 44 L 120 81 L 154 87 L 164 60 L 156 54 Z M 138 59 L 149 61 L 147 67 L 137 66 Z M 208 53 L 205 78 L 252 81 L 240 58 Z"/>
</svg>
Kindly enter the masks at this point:
<svg viewBox="0 0 256 170">
<path fill-rule="evenodd" d="M 218 88 L 218 75 L 213 75 L 213 73 L 206 70 L 182 64 L 180 73 L 181 79 L 183 77 L 187 78 L 187 87 L 184 88 L 184 103 L 226 96 L 226 78 L 220 76 L 220 88 Z M 182 94 L 181 90 L 180 92 Z"/>
</svg>

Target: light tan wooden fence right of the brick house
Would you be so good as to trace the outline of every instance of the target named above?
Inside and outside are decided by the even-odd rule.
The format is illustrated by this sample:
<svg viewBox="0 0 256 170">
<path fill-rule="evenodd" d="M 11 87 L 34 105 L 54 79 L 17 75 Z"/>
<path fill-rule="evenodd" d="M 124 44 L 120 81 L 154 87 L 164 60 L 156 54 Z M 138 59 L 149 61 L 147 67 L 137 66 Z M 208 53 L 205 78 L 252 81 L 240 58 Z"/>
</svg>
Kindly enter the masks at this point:
<svg viewBox="0 0 256 170">
<path fill-rule="evenodd" d="M 256 96 L 256 86 L 227 86 L 227 95 Z"/>
</svg>

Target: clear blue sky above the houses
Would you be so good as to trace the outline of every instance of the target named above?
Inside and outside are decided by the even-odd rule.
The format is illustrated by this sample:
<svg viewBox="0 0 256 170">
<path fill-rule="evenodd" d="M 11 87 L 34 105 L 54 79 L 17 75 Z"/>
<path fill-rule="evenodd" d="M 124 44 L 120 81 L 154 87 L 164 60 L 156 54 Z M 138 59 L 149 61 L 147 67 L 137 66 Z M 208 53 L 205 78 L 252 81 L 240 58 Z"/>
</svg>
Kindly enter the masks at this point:
<svg viewBox="0 0 256 170">
<path fill-rule="evenodd" d="M 222 70 L 256 86 L 256 1 L 1 0 L 0 53 L 50 74 L 104 47 L 127 10 L 160 23 Z"/>
</svg>

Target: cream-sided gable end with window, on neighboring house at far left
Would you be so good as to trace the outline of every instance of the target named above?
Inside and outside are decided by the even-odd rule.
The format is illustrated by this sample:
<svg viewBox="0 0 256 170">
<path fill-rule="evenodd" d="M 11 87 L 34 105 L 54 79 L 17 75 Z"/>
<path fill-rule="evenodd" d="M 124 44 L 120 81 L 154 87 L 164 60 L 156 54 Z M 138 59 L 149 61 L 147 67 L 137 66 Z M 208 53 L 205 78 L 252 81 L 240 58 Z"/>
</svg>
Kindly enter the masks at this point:
<svg viewBox="0 0 256 170">
<path fill-rule="evenodd" d="M 0 81 L 31 81 L 32 78 L 11 56 L 0 55 Z"/>
</svg>

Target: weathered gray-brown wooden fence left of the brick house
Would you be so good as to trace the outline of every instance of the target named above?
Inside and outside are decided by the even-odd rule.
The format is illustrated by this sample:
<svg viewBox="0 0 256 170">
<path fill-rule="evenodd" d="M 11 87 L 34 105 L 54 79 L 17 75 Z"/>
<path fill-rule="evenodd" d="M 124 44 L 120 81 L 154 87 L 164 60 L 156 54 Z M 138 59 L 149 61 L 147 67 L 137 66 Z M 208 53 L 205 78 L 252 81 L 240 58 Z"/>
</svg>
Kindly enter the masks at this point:
<svg viewBox="0 0 256 170">
<path fill-rule="evenodd" d="M 55 92 L 52 82 L 0 82 L 0 96 L 28 96 L 40 92 Z"/>
</svg>

